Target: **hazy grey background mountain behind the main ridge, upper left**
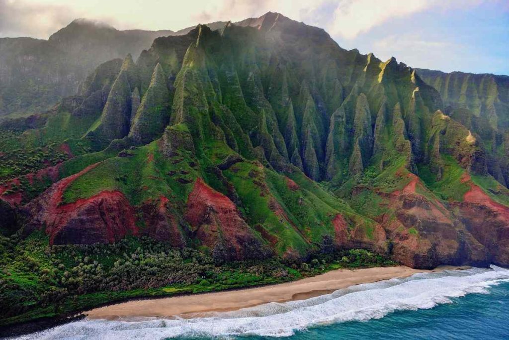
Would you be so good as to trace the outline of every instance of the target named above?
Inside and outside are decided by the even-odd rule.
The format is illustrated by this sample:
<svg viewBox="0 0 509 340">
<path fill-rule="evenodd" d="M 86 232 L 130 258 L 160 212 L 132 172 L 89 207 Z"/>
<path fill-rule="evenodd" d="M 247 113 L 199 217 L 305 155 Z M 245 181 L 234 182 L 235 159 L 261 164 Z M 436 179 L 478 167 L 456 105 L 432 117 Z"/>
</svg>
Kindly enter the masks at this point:
<svg viewBox="0 0 509 340">
<path fill-rule="evenodd" d="M 172 31 L 119 31 L 76 19 L 48 40 L 0 38 L 0 119 L 44 112 L 78 85 L 99 64 L 126 54 L 139 55 L 159 36 Z"/>
</svg>

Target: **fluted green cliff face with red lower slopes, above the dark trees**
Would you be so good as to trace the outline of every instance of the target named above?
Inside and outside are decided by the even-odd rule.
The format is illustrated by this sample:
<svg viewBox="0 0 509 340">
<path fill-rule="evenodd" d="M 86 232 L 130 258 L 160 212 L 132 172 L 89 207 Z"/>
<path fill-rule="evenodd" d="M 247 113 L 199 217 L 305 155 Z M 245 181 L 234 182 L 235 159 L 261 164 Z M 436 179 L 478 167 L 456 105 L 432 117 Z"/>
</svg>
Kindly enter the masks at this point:
<svg viewBox="0 0 509 340">
<path fill-rule="evenodd" d="M 50 244 L 508 265 L 507 93 L 445 96 L 434 74 L 277 13 L 198 25 L 100 65 L 43 122 L 5 123 L 0 197 Z M 62 157 L 26 165 L 35 145 Z"/>
</svg>

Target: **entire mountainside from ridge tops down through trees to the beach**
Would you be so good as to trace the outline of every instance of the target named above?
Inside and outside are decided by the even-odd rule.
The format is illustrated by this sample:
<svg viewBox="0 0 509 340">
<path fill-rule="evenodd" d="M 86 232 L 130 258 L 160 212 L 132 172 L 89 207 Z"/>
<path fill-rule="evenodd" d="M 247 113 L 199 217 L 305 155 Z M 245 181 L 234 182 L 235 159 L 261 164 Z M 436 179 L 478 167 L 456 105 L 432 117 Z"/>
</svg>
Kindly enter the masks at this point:
<svg viewBox="0 0 509 340">
<path fill-rule="evenodd" d="M 13 40 L 56 55 L 41 72 L 53 41 L 90 72 L 0 123 L 0 326 L 333 268 L 509 265 L 507 77 L 381 61 L 270 12 L 143 50 L 127 41 L 149 33 L 75 24 Z"/>
</svg>

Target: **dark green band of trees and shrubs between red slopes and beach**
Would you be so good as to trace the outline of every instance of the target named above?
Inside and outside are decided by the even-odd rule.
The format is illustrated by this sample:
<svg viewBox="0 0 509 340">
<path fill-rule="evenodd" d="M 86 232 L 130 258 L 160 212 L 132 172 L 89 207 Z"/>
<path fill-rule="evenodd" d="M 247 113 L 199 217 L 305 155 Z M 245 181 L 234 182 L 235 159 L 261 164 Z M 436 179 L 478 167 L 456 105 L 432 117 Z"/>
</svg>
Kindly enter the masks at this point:
<svg viewBox="0 0 509 340">
<path fill-rule="evenodd" d="M 307 262 L 281 258 L 223 265 L 193 249 L 147 238 L 111 245 L 48 246 L 43 232 L 0 238 L 1 326 L 129 298 L 173 296 L 273 284 L 338 268 L 392 266 L 365 250 L 316 254 Z"/>
</svg>

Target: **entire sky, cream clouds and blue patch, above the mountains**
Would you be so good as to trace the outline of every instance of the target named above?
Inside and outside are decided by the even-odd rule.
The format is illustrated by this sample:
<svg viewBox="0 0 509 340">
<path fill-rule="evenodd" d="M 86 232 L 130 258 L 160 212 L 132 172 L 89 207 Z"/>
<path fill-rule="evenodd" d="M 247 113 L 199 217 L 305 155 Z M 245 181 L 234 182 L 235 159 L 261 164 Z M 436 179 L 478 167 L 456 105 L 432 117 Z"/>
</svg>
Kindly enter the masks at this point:
<svg viewBox="0 0 509 340">
<path fill-rule="evenodd" d="M 412 67 L 509 75 L 509 0 L 0 0 L 0 37 L 47 39 L 75 18 L 174 30 L 272 11 Z"/>
</svg>

